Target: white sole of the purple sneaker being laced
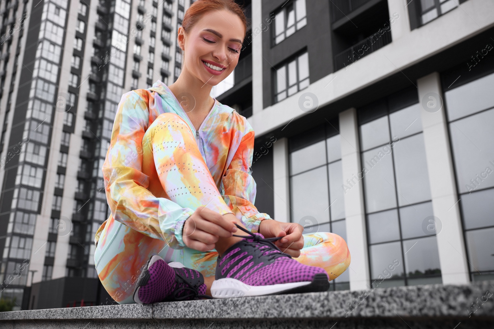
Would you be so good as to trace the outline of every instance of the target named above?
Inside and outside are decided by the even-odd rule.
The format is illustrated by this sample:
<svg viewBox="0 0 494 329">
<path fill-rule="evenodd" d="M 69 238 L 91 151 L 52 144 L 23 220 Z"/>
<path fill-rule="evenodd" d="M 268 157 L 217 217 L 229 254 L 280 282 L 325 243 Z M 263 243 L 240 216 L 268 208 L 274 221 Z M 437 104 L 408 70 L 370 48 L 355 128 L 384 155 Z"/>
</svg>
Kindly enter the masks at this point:
<svg viewBox="0 0 494 329">
<path fill-rule="evenodd" d="M 249 286 L 240 280 L 224 278 L 213 281 L 211 295 L 214 298 L 232 298 L 242 296 L 262 296 L 286 292 L 294 288 L 308 286 L 312 281 L 281 283 L 270 286 Z"/>
</svg>

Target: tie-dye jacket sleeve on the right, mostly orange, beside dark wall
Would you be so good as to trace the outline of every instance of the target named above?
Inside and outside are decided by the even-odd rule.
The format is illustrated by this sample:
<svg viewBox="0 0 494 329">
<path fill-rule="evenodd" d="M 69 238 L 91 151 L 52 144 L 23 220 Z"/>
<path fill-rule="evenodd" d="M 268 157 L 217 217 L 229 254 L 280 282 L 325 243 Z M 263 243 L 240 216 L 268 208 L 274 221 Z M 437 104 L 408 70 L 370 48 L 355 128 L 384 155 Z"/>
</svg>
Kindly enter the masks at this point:
<svg viewBox="0 0 494 329">
<path fill-rule="evenodd" d="M 250 125 L 247 126 L 250 127 Z M 255 233 L 264 219 L 272 219 L 268 214 L 259 213 L 254 207 L 256 183 L 251 173 L 254 149 L 254 131 L 250 130 L 242 137 L 240 145 L 232 158 L 221 182 L 221 195 L 246 228 Z"/>
</svg>

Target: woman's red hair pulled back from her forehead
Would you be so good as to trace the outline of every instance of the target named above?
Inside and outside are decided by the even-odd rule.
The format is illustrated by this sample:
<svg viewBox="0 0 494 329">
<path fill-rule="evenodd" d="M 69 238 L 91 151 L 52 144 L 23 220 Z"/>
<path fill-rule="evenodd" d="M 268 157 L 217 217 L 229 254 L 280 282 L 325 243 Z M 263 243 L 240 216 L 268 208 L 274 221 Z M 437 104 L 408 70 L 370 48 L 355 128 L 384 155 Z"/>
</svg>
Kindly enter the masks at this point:
<svg viewBox="0 0 494 329">
<path fill-rule="evenodd" d="M 231 13 L 240 17 L 244 24 L 244 30 L 247 33 L 247 17 L 244 14 L 244 9 L 233 0 L 197 0 L 190 5 L 182 20 L 182 28 L 186 34 L 189 34 L 192 27 L 209 11 L 213 10 L 228 10 Z M 244 33 L 244 37 L 246 35 Z"/>
</svg>

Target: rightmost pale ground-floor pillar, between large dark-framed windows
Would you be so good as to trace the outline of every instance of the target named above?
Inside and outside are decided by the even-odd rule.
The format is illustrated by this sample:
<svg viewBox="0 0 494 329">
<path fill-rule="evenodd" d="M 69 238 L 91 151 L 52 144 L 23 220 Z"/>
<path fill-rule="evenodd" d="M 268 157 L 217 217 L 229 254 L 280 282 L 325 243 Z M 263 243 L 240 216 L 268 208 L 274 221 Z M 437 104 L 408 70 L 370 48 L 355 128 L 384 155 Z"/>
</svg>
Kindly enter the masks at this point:
<svg viewBox="0 0 494 329">
<path fill-rule="evenodd" d="M 453 158 L 439 73 L 434 72 L 418 79 L 417 86 L 418 100 L 422 105 L 420 111 L 432 209 L 434 216 L 442 223 L 441 231 L 437 234 L 437 244 L 443 284 L 469 283 Z"/>
</svg>

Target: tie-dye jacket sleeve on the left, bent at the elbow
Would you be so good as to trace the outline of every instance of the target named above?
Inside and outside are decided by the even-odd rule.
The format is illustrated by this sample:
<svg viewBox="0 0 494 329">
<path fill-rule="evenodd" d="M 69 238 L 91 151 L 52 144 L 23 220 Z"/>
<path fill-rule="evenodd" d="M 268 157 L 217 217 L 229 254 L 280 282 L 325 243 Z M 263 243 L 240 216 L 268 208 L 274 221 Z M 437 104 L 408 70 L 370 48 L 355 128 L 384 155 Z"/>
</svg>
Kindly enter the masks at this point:
<svg viewBox="0 0 494 329">
<path fill-rule="evenodd" d="M 110 146 L 101 170 L 111 216 L 149 237 L 164 240 L 171 248 L 185 247 L 182 226 L 194 213 L 147 188 L 142 170 L 142 139 L 149 125 L 148 101 L 143 89 L 125 93 L 115 116 Z"/>
</svg>

